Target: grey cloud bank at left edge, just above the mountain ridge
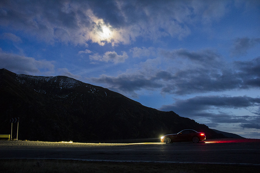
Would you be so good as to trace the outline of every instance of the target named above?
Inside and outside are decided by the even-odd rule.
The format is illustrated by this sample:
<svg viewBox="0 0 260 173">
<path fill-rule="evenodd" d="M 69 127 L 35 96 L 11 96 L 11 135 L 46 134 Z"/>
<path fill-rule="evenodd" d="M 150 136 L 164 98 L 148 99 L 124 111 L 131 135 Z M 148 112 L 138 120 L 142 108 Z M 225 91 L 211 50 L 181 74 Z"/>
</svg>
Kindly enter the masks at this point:
<svg viewBox="0 0 260 173">
<path fill-rule="evenodd" d="M 32 57 L 5 53 L 0 50 L 0 68 L 17 74 L 49 74 L 54 71 L 54 61 L 36 60 Z"/>
</svg>

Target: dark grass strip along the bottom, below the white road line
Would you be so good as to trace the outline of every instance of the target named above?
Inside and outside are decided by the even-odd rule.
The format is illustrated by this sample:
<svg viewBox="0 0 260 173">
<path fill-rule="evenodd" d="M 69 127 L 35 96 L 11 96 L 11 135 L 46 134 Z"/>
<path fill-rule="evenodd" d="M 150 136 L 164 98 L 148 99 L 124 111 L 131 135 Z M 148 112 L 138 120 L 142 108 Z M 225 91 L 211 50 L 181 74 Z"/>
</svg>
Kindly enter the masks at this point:
<svg viewBox="0 0 260 173">
<path fill-rule="evenodd" d="M 74 160 L 0 159 L 5 173 L 240 173 L 260 172 L 260 166 L 176 164 L 154 162 L 94 162 Z"/>
</svg>

